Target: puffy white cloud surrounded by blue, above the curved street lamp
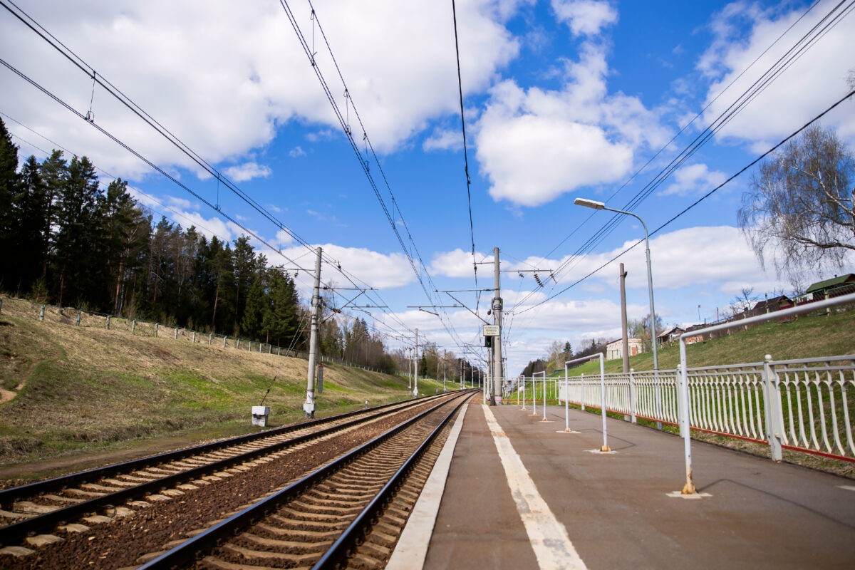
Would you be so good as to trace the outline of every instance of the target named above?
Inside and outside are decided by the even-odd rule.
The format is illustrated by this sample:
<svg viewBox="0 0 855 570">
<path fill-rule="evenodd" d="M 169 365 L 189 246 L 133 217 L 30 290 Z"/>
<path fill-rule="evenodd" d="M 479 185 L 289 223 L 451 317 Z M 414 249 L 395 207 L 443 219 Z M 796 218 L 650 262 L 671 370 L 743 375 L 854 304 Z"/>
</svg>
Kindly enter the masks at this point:
<svg viewBox="0 0 855 570">
<path fill-rule="evenodd" d="M 505 80 L 477 124 L 476 152 L 490 195 L 522 206 L 626 177 L 641 144 L 667 140 L 657 116 L 635 97 L 609 96 L 604 50 L 583 44 L 560 90 Z"/>
</svg>

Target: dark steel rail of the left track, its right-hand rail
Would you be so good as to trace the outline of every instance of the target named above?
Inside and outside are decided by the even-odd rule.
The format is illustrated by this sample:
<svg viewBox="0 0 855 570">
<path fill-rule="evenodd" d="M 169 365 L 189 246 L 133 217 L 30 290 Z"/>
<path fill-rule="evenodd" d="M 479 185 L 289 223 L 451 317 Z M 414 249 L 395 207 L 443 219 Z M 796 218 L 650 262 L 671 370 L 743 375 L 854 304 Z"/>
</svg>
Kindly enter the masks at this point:
<svg viewBox="0 0 855 570">
<path fill-rule="evenodd" d="M 435 399 L 436 397 L 437 396 L 434 395 L 432 397 L 426 397 L 421 400 L 412 400 L 410 402 L 410 405 L 425 403 L 425 401 L 428 401 L 429 399 Z M 388 408 L 391 405 L 395 404 L 386 404 L 380 408 Z M 391 412 L 385 412 L 384 414 L 388 413 Z M 341 414 L 341 416 L 335 417 L 341 419 L 342 417 L 347 417 L 348 415 L 352 414 L 353 413 Z M 78 502 L 72 505 L 68 505 L 68 507 L 57 508 L 56 510 L 51 511 L 50 513 L 38 514 L 30 519 L 20 520 L 11 525 L 0 527 L 0 545 L 17 544 L 21 542 L 22 539 L 27 538 L 27 536 L 31 536 L 32 534 L 51 529 L 57 525 L 64 524 L 69 520 L 76 520 L 81 516 L 84 516 L 85 514 L 97 512 L 97 510 L 100 508 L 113 507 L 123 502 L 133 500 L 135 498 L 144 497 L 145 495 L 150 494 L 150 492 L 152 491 L 160 491 L 164 488 L 180 485 L 182 483 L 192 481 L 194 479 L 199 479 L 200 477 L 208 475 L 209 473 L 222 471 L 224 469 L 232 467 L 233 465 L 238 465 L 246 461 L 251 461 L 262 455 L 269 455 L 271 453 L 274 453 L 275 451 L 279 451 L 281 449 L 285 449 L 293 445 L 303 444 L 307 441 L 310 441 L 311 439 L 321 438 L 330 433 L 338 432 L 347 427 L 356 426 L 357 424 L 363 423 L 366 420 L 374 419 L 384 414 L 374 414 L 372 416 L 369 416 L 368 418 L 358 418 L 356 420 L 351 420 L 345 422 L 344 424 L 338 424 L 336 426 L 328 427 L 327 429 L 323 429 L 318 432 L 307 433 L 305 435 L 299 436 L 298 438 L 289 439 L 284 442 L 268 445 L 262 448 L 258 448 L 256 450 L 250 450 L 243 454 L 233 455 L 232 457 L 227 457 L 225 459 L 214 461 L 212 463 L 208 463 L 199 467 L 193 467 L 180 473 L 174 473 L 158 479 L 152 479 L 151 481 L 148 481 L 146 483 L 141 483 L 139 485 L 134 485 L 133 487 L 121 489 L 120 491 L 108 493 L 106 495 L 103 495 L 102 497 L 93 497 L 84 502 Z M 329 418 L 327 420 L 332 420 L 332 418 Z M 297 426 L 304 427 L 306 426 L 306 424 L 298 424 Z"/>
</svg>

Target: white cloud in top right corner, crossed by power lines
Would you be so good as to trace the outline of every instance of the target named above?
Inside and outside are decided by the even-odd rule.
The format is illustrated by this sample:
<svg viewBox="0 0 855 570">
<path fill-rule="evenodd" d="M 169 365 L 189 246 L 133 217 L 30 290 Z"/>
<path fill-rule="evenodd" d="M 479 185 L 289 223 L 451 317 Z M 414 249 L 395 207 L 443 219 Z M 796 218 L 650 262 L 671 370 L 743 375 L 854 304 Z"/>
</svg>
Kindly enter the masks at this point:
<svg viewBox="0 0 855 570">
<path fill-rule="evenodd" d="M 789 11 L 789 6 L 783 3 L 764 11 L 757 4 L 738 2 L 728 4 L 716 15 L 711 23 L 714 42 L 697 64 L 711 79 L 706 97 L 710 107 L 704 114 L 706 124 L 727 112 L 736 97 L 750 89 L 762 73 L 817 24 L 832 4 L 818 5 L 798 23 L 804 7 Z M 772 45 L 789 26 L 793 29 Z M 855 37 L 855 19 L 841 19 L 759 92 L 717 136 L 746 141 L 754 151 L 767 150 L 828 108 L 846 94 L 846 73 L 852 69 L 852 58 L 841 55 L 852 52 L 852 37 Z M 758 61 L 754 62 L 755 59 Z M 734 85 L 728 87 L 731 82 Z M 723 96 L 718 97 L 726 88 Z M 823 123 L 835 126 L 842 138 L 855 143 L 855 113 L 851 105 L 835 109 L 823 118 Z"/>
</svg>

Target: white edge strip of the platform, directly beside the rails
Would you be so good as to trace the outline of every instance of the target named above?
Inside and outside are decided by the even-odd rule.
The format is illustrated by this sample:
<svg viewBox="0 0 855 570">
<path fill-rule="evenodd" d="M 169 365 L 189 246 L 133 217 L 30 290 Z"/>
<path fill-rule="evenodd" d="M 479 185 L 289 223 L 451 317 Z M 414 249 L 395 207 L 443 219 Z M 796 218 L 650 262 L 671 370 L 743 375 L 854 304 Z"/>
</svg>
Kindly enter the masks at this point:
<svg viewBox="0 0 855 570">
<path fill-rule="evenodd" d="M 466 415 L 468 408 L 469 404 L 463 405 L 460 414 L 457 414 L 454 426 L 451 426 L 448 439 L 445 440 L 439 457 L 433 463 L 428 482 L 425 483 L 422 494 L 419 495 L 419 500 L 416 501 L 416 506 L 413 507 L 410 518 L 407 519 L 404 532 L 401 532 L 398 544 L 392 551 L 392 557 L 386 563 L 388 570 L 420 570 L 424 567 L 430 538 L 433 535 L 433 525 L 439 513 L 439 502 L 442 501 L 445 481 L 448 480 L 448 470 L 451 468 L 451 457 L 454 455 L 457 436 L 463 429 L 463 416 Z"/>
</svg>

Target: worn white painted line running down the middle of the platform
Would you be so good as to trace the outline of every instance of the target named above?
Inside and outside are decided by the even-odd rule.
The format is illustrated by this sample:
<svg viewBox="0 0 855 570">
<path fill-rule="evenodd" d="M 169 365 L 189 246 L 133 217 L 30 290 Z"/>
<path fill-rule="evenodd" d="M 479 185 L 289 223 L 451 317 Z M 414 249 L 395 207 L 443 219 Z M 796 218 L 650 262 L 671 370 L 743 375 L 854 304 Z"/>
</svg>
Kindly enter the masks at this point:
<svg viewBox="0 0 855 570">
<path fill-rule="evenodd" d="M 496 444 L 498 457 L 502 460 L 504 475 L 508 479 L 510 494 L 516 502 L 522 524 L 526 527 L 528 540 L 534 549 L 538 566 L 541 568 L 564 568 L 566 570 L 585 570 L 585 562 L 570 542 L 567 529 L 552 514 L 549 505 L 540 497 L 528 470 L 516 455 L 514 446 L 505 435 L 502 426 L 489 406 L 484 406 L 487 426 L 490 426 L 492 440 Z"/>
</svg>

